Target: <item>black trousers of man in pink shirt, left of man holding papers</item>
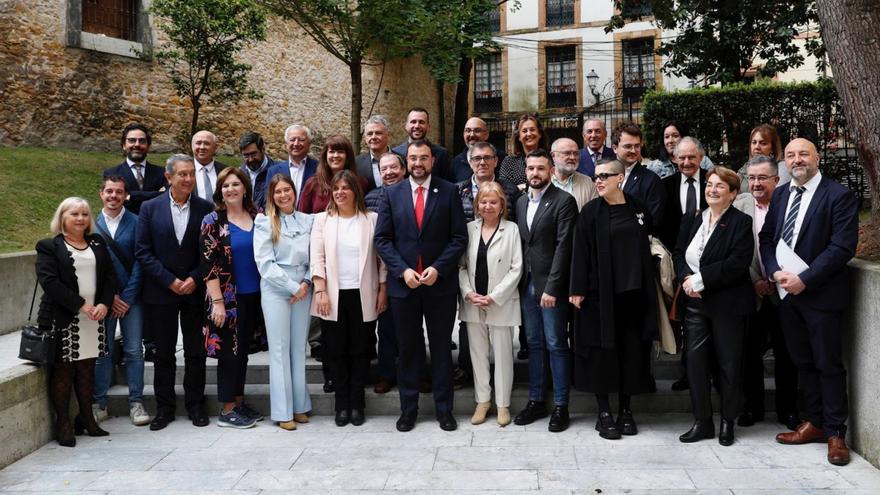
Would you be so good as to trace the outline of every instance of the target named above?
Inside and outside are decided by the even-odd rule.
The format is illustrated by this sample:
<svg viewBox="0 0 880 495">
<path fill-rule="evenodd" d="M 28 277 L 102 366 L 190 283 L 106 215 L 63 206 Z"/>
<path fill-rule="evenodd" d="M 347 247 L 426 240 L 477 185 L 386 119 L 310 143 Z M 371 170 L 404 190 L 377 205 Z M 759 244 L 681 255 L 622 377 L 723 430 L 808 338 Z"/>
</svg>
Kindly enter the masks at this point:
<svg viewBox="0 0 880 495">
<path fill-rule="evenodd" d="M 779 323 L 779 308 L 767 298 L 762 302 L 761 309 L 749 317 L 746 330 L 743 350 L 743 410 L 759 417 L 764 415 L 764 353 L 768 340 L 775 359 L 776 414 L 797 416 L 797 368 L 788 355 Z"/>
</svg>

